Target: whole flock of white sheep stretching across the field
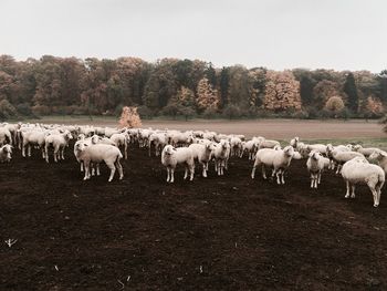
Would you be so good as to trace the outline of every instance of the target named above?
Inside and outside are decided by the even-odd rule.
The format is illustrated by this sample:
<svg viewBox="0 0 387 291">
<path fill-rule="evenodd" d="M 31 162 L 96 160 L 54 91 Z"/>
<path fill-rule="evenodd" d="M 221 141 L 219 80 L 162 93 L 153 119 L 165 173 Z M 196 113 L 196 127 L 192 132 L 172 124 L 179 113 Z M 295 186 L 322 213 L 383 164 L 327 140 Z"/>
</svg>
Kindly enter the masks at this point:
<svg viewBox="0 0 387 291">
<path fill-rule="evenodd" d="M 247 141 L 243 135 L 224 135 L 209 131 L 159 131 L 151 128 L 111 128 L 97 126 L 76 126 L 56 124 L 9 124 L 0 125 L 0 162 L 10 162 L 12 148 L 19 148 L 23 157 L 31 156 L 31 148 L 41 150 L 42 158 L 50 162 L 50 152 L 54 162 L 64 159 L 64 149 L 71 139 L 75 139 L 74 156 L 84 172 L 84 179 L 100 175 L 100 164 L 104 162 L 111 169 L 108 181 L 115 172 L 119 179 L 124 177 L 121 159 L 127 159 L 129 144 L 147 148 L 148 155 L 161 156 L 167 168 L 167 183 L 174 183 L 177 165 L 185 166 L 185 176 L 192 180 L 195 163 L 207 177 L 209 164 L 213 160 L 217 175 L 228 169 L 231 156 L 248 156 L 254 160 L 251 178 L 257 168 L 261 168 L 266 179 L 266 169 L 278 184 L 284 184 L 284 174 L 292 159 L 306 159 L 311 175 L 311 188 L 317 188 L 324 170 L 335 170 L 346 181 L 345 197 L 355 197 L 355 185 L 366 184 L 374 196 L 374 206 L 380 200 L 381 187 L 387 170 L 387 153 L 379 148 L 364 148 L 360 145 L 305 144 L 294 137 L 289 145 L 281 147 L 280 142 L 262 136 Z M 369 160 L 375 163 L 369 163 Z"/>
</svg>

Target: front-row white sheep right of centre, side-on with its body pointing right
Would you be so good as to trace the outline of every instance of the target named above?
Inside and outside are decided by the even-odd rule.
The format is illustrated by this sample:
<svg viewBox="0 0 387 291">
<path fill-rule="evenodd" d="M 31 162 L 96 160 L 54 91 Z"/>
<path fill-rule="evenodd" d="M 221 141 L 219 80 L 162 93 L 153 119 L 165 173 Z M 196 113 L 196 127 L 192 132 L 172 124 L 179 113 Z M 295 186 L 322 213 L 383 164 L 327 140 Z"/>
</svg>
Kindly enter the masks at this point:
<svg viewBox="0 0 387 291">
<path fill-rule="evenodd" d="M 265 166 L 273 167 L 272 176 L 276 175 L 278 184 L 285 184 L 284 173 L 290 166 L 294 155 L 294 148 L 286 146 L 284 149 L 262 148 L 257 152 L 251 178 L 255 176 L 255 168 L 262 165 L 262 176 L 266 179 Z"/>
</svg>

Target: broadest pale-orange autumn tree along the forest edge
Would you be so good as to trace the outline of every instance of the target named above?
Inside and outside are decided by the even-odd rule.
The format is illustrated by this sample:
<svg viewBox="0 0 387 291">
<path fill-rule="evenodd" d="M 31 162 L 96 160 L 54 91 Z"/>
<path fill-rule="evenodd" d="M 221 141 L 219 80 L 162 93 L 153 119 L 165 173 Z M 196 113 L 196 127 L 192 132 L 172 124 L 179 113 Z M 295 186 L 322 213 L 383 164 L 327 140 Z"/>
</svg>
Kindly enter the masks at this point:
<svg viewBox="0 0 387 291">
<path fill-rule="evenodd" d="M 291 71 L 268 71 L 263 107 L 275 112 L 301 110 L 300 82 Z"/>
</svg>

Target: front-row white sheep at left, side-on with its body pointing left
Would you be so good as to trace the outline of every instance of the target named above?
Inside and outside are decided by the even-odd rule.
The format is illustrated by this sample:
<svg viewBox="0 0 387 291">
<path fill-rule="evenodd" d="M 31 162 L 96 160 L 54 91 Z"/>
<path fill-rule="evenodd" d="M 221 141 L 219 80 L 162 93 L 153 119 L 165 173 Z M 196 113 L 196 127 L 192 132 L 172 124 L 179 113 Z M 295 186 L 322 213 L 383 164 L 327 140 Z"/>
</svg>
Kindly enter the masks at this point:
<svg viewBox="0 0 387 291">
<path fill-rule="evenodd" d="M 90 166 L 91 163 L 105 162 L 106 166 L 111 169 L 108 181 L 113 180 L 115 170 L 118 170 L 119 179 L 124 177 L 123 166 L 119 159 L 123 158 L 119 149 L 116 146 L 104 144 L 88 144 L 84 141 L 77 141 L 74 145 L 74 155 L 79 162 L 83 162 L 85 166 L 84 180 L 91 178 Z M 100 172 L 97 172 L 100 175 Z"/>
</svg>

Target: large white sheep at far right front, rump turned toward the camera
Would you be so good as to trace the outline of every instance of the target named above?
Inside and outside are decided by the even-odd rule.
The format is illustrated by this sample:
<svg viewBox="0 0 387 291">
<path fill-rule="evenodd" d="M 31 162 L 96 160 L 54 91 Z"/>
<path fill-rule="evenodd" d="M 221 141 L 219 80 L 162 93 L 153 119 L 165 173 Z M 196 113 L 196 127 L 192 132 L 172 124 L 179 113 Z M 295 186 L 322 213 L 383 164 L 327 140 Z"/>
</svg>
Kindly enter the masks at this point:
<svg viewBox="0 0 387 291">
<path fill-rule="evenodd" d="M 369 164 L 364 157 L 355 157 L 346 162 L 342 169 L 342 176 L 346 183 L 345 198 L 355 198 L 356 184 L 366 184 L 374 196 L 374 207 L 380 202 L 381 187 L 385 184 L 385 172 L 377 165 Z"/>
</svg>

